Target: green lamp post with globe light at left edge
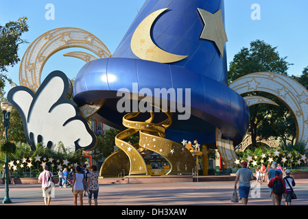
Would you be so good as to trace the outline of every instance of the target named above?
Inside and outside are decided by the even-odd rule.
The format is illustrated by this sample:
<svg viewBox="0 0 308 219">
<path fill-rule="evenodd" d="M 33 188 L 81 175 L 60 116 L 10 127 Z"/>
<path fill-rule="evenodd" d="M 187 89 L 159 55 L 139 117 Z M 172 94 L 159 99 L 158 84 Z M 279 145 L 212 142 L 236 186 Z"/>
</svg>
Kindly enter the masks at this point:
<svg viewBox="0 0 308 219">
<path fill-rule="evenodd" d="M 5 140 L 8 140 L 8 128 L 10 127 L 10 114 L 12 111 L 12 104 L 8 102 L 1 102 L 1 110 L 3 114 L 3 125 L 5 128 Z M 9 172 L 8 172 L 8 154 L 5 154 L 5 197 L 2 201 L 3 204 L 5 203 L 12 203 L 10 201 L 9 197 L 9 188 L 8 188 L 8 183 L 9 183 Z"/>
</svg>

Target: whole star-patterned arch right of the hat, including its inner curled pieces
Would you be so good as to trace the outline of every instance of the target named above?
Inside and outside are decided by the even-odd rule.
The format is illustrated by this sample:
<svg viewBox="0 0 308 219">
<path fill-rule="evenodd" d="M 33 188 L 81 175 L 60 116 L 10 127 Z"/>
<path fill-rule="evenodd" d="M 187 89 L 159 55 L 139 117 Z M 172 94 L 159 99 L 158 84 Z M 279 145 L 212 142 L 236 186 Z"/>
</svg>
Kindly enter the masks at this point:
<svg viewBox="0 0 308 219">
<path fill-rule="evenodd" d="M 305 142 L 305 149 L 308 149 L 308 91 L 304 86 L 279 73 L 261 72 L 240 77 L 229 87 L 238 94 L 265 92 L 285 103 L 296 122 L 296 142 Z M 262 96 L 245 96 L 244 99 L 248 106 L 261 103 L 279 106 Z M 225 140 L 222 141 L 219 132 L 216 134 L 217 149 L 224 162 L 231 165 L 236 159 L 234 147 L 229 146 L 230 142 L 226 144 Z"/>
</svg>

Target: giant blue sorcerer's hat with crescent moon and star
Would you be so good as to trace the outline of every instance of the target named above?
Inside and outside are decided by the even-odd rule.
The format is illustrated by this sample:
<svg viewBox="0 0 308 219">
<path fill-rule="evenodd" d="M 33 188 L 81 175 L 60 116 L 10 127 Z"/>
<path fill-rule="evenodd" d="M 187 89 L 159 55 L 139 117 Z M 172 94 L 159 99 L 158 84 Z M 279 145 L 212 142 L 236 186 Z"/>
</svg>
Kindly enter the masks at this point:
<svg viewBox="0 0 308 219">
<path fill-rule="evenodd" d="M 215 142 L 215 128 L 238 144 L 248 106 L 228 88 L 223 0 L 147 0 L 112 57 L 88 62 L 74 84 L 78 105 L 106 99 L 93 117 L 123 128 L 117 90 L 190 88 L 191 117 L 173 120 L 167 138 Z M 168 98 L 170 101 L 170 99 Z M 185 103 L 183 101 L 183 103 Z"/>
</svg>

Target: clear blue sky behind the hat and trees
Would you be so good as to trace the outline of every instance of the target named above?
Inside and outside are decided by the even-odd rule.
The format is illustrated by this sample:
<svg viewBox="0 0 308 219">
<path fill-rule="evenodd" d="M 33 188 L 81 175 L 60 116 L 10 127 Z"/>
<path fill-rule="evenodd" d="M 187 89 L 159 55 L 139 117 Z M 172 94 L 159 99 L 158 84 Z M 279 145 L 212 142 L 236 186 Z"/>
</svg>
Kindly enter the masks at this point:
<svg viewBox="0 0 308 219">
<path fill-rule="evenodd" d="M 27 16 L 29 31 L 23 35 L 28 42 L 34 41 L 46 31 L 58 27 L 78 27 L 97 36 L 111 53 L 126 34 L 128 27 L 137 16 L 144 0 L 0 0 L 0 24 L 16 21 Z M 225 0 L 225 26 L 228 64 L 242 47 L 249 47 L 252 40 L 264 40 L 278 47 L 282 57 L 294 64 L 289 75 L 302 73 L 308 66 L 308 1 L 307 0 Z M 45 19 L 45 5 L 54 4 L 55 19 Z M 260 20 L 252 20 L 252 4 L 260 6 Z M 22 58 L 29 44 L 21 45 Z M 63 57 L 66 49 L 54 54 L 45 64 L 42 79 L 52 70 L 62 70 L 69 78 L 75 77 L 85 64 L 73 57 Z M 8 75 L 19 84 L 19 64 L 8 68 Z M 5 90 L 8 91 L 9 88 Z"/>
</svg>

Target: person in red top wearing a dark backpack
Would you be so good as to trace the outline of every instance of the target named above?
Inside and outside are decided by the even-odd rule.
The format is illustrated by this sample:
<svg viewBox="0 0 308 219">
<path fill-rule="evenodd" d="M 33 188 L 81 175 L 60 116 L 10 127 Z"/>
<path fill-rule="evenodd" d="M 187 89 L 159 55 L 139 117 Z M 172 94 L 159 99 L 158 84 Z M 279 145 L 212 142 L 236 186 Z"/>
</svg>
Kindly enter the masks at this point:
<svg viewBox="0 0 308 219">
<path fill-rule="evenodd" d="M 281 198 L 283 195 L 287 193 L 287 189 L 285 188 L 285 181 L 281 179 L 281 171 L 276 170 L 274 172 L 274 177 L 271 179 L 270 183 L 268 183 L 268 187 L 272 188 L 271 196 L 274 205 L 281 205 Z"/>
</svg>

